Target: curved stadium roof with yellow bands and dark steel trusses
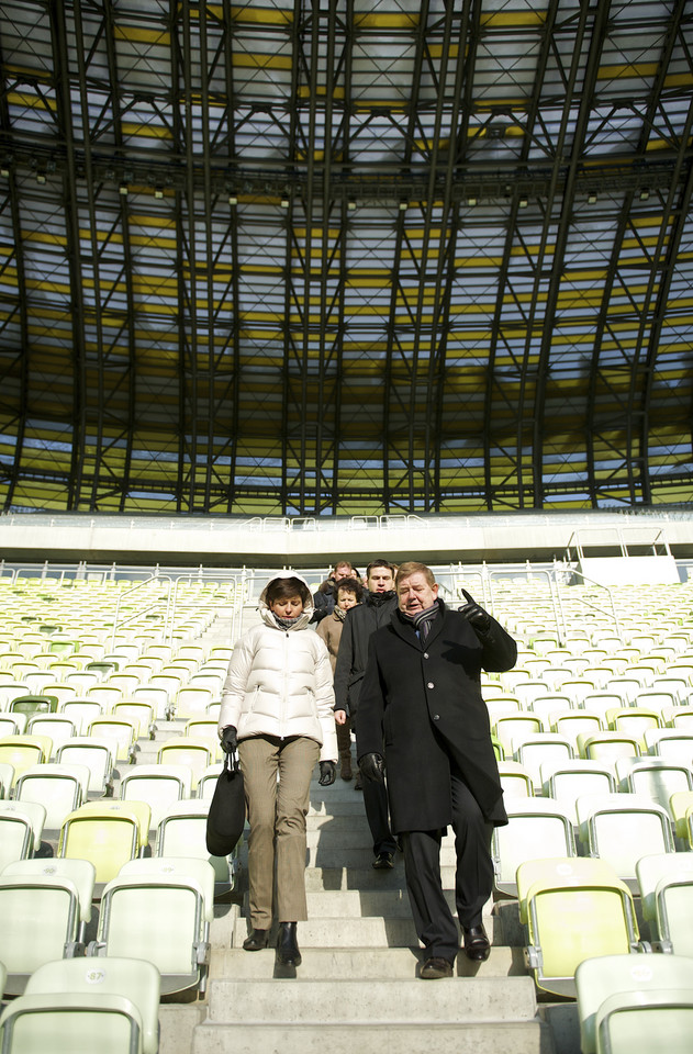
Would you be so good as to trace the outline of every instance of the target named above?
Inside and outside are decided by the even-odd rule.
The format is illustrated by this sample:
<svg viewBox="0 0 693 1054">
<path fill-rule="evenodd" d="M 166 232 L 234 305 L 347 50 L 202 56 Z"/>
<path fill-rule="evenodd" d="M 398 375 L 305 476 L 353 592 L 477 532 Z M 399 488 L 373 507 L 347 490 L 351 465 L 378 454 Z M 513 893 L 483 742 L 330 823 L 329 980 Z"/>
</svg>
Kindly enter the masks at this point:
<svg viewBox="0 0 693 1054">
<path fill-rule="evenodd" d="M 691 502 L 693 4 L 2 0 L 0 507 Z"/>
</svg>

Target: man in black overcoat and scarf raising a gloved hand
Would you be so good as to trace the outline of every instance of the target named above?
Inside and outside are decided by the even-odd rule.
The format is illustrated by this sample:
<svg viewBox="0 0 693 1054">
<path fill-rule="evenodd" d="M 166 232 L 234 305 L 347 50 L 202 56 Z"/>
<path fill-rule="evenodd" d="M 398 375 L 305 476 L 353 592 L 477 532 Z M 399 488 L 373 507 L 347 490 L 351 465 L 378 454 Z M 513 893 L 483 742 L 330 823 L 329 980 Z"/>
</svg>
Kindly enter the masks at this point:
<svg viewBox="0 0 693 1054">
<path fill-rule="evenodd" d="M 446 608 L 429 568 L 404 563 L 398 610 L 370 641 L 356 722 L 367 780 L 387 766 L 392 829 L 404 843 L 406 886 L 425 945 L 423 978 L 450 977 L 459 935 L 440 883 L 440 841 L 455 831 L 455 901 L 469 958 L 488 958 L 482 923 L 493 888 L 494 826 L 507 823 L 481 670 L 510 670 L 515 641 L 465 593 Z"/>
</svg>

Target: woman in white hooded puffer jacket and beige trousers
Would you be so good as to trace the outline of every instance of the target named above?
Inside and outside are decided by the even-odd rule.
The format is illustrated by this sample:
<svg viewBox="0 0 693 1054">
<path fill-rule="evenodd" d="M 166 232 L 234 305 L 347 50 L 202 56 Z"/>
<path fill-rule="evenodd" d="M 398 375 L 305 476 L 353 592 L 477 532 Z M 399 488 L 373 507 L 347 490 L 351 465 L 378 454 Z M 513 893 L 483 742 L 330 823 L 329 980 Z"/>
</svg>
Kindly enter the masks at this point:
<svg viewBox="0 0 693 1054">
<path fill-rule="evenodd" d="M 332 666 L 324 642 L 308 630 L 313 607 L 304 579 L 293 572 L 275 575 L 259 608 L 262 625 L 244 633 L 228 663 L 219 733 L 224 750 L 238 750 L 250 825 L 252 930 L 243 946 L 249 952 L 267 948 L 276 887 L 277 961 L 298 966 L 297 922 L 308 918 L 311 774 L 320 761 L 323 786 L 336 775 Z"/>
</svg>

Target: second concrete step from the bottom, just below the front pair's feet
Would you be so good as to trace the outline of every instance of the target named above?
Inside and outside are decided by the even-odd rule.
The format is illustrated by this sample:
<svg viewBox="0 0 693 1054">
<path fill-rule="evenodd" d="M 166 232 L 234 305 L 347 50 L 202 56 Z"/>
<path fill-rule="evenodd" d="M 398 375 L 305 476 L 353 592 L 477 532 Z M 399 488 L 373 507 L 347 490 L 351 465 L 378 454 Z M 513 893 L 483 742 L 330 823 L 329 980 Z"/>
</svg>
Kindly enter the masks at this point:
<svg viewBox="0 0 693 1054">
<path fill-rule="evenodd" d="M 259 954 L 259 953 L 257 953 Z M 300 975 L 301 967 L 298 969 Z M 425 985 L 412 979 L 214 980 L 208 1020 L 234 1024 L 243 1008 L 244 1028 L 267 1024 L 398 1024 L 533 1021 L 537 1012 L 529 977 L 450 978 Z"/>
</svg>

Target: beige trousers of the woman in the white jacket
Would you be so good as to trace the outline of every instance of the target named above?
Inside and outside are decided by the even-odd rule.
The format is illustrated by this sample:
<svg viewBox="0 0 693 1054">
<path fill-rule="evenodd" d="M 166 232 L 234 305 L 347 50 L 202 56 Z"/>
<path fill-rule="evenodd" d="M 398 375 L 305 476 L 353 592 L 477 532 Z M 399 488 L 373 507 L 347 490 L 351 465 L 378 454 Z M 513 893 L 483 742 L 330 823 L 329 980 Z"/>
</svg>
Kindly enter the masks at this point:
<svg viewBox="0 0 693 1054">
<path fill-rule="evenodd" d="M 255 736 L 238 743 L 238 758 L 250 826 L 250 922 L 268 930 L 272 907 L 279 922 L 302 922 L 308 918 L 305 816 L 320 745 L 303 736 Z"/>
</svg>

